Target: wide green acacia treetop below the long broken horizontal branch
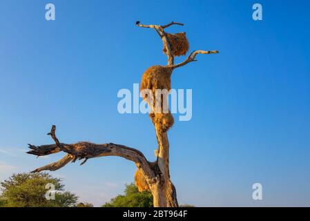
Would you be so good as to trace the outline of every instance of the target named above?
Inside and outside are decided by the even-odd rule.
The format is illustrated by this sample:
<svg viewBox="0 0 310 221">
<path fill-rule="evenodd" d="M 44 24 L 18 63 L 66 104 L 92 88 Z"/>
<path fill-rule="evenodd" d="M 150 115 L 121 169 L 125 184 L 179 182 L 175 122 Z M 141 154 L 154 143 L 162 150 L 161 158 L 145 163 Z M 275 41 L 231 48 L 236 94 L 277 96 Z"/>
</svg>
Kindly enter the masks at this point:
<svg viewBox="0 0 310 221">
<path fill-rule="evenodd" d="M 55 185 L 55 200 L 46 200 L 46 184 Z M 17 173 L 0 183 L 0 206 L 68 207 L 77 204 L 77 195 L 64 191 L 61 179 L 48 173 Z"/>
</svg>

